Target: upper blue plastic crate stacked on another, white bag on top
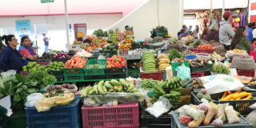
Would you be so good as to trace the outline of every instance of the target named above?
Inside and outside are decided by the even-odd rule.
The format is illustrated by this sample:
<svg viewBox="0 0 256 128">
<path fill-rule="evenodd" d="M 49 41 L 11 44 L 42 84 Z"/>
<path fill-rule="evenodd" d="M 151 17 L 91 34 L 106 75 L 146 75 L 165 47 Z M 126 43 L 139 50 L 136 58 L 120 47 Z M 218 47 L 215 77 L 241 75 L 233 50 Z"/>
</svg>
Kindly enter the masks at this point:
<svg viewBox="0 0 256 128">
<path fill-rule="evenodd" d="M 26 107 L 25 110 L 27 124 L 37 123 L 40 125 L 40 123 L 48 122 L 74 122 L 78 120 L 78 117 L 81 114 L 82 105 L 81 102 L 79 102 L 80 98 L 75 97 L 74 102 L 69 105 L 54 106 L 51 107 L 50 110 L 44 112 L 38 112 L 35 107 Z M 57 128 L 57 126 L 54 128 Z"/>
</svg>

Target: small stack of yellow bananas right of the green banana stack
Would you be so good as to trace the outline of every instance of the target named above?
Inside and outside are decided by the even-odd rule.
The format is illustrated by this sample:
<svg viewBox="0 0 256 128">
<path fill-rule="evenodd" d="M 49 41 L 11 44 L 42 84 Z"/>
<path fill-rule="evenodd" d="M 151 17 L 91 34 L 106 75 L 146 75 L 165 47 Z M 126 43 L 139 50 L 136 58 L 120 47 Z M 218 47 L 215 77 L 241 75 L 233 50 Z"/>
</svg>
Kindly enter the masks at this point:
<svg viewBox="0 0 256 128">
<path fill-rule="evenodd" d="M 159 71 L 166 71 L 166 67 L 170 66 L 170 58 L 166 54 L 159 54 L 157 65 Z"/>
</svg>

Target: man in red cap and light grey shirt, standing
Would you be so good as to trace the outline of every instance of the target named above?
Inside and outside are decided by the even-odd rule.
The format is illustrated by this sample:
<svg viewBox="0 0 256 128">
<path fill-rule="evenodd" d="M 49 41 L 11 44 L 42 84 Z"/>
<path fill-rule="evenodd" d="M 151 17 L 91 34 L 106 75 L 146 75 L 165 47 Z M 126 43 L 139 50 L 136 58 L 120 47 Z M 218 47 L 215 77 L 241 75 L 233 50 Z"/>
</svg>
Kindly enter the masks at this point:
<svg viewBox="0 0 256 128">
<path fill-rule="evenodd" d="M 226 50 L 230 50 L 231 39 L 234 37 L 234 30 L 230 22 L 232 22 L 232 15 L 230 12 L 223 14 L 224 20 L 219 22 L 219 42 L 225 47 Z"/>
</svg>

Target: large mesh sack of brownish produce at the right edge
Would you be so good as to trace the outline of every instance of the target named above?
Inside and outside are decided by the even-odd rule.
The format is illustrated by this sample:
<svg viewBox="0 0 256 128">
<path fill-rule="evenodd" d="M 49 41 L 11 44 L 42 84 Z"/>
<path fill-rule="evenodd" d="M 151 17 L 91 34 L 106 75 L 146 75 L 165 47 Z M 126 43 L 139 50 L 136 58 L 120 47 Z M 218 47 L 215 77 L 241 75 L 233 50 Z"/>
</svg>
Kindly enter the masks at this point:
<svg viewBox="0 0 256 128">
<path fill-rule="evenodd" d="M 255 70 L 256 65 L 254 62 L 254 57 L 252 56 L 234 57 L 232 60 L 232 64 L 230 65 L 230 69 Z"/>
</svg>

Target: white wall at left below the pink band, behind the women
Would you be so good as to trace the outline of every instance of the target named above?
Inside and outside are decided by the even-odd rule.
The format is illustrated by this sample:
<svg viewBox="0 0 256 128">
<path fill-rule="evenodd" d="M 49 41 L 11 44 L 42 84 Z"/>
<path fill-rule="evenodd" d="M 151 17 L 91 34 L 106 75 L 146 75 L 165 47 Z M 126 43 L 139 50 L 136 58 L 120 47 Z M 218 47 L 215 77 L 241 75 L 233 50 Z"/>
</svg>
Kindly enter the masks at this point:
<svg viewBox="0 0 256 128">
<path fill-rule="evenodd" d="M 72 25 L 72 32 L 70 36 L 70 44 L 74 42 L 74 23 L 86 23 L 87 34 L 93 34 L 94 30 L 106 30 L 108 27 L 118 22 L 122 18 L 122 14 L 87 14 L 87 15 L 70 15 L 69 23 Z M 24 17 L 24 18 L 0 18 L 0 28 L 14 27 L 16 28 L 16 20 L 30 20 L 30 26 L 37 24 L 47 24 L 48 37 L 51 37 L 49 49 L 53 50 L 66 50 L 70 47 L 66 43 L 66 23 L 65 16 L 37 16 L 37 17 Z M 31 29 L 34 27 L 31 27 Z M 33 34 L 32 34 L 33 35 Z M 17 35 L 18 37 L 18 35 Z M 31 38 L 34 40 L 34 37 Z M 42 39 L 42 38 L 38 38 Z M 38 44 L 42 46 L 43 44 Z M 42 54 L 39 50 L 39 54 Z"/>
</svg>

